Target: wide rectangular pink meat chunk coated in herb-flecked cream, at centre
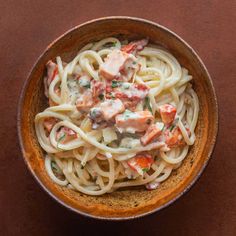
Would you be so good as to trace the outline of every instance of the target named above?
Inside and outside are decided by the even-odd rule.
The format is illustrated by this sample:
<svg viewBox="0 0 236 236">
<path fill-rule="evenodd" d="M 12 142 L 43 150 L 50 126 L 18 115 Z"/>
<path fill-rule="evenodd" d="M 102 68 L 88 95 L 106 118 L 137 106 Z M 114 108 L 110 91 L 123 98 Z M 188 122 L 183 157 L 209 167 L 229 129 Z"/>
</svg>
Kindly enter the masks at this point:
<svg viewBox="0 0 236 236">
<path fill-rule="evenodd" d="M 116 127 L 122 132 L 143 132 L 153 123 L 154 117 L 149 111 L 131 112 L 126 110 L 116 116 Z"/>
</svg>

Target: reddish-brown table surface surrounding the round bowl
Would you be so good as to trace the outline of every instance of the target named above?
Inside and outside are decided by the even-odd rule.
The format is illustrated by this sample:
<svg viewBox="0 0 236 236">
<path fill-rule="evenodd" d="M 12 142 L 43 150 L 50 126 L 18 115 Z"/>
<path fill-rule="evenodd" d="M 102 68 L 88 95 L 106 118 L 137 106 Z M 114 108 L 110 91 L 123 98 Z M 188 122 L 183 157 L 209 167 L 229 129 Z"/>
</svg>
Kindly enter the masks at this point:
<svg viewBox="0 0 236 236">
<path fill-rule="evenodd" d="M 0 0 L 1 235 L 236 235 L 236 1 Z M 195 186 L 170 207 L 142 219 L 104 222 L 65 209 L 26 168 L 17 138 L 19 94 L 39 54 L 90 19 L 128 15 L 158 22 L 183 37 L 208 68 L 220 126 L 212 160 Z"/>
</svg>

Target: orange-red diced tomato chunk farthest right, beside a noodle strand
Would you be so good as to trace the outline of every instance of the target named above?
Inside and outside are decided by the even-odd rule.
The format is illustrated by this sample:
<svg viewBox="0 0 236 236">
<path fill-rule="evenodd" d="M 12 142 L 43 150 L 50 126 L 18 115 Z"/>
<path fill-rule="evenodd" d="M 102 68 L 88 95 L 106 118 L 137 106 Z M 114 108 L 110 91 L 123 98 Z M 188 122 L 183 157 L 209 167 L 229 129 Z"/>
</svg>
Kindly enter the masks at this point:
<svg viewBox="0 0 236 236">
<path fill-rule="evenodd" d="M 172 131 L 167 129 L 164 133 L 164 136 L 165 143 L 168 147 L 177 147 L 185 144 L 184 138 L 179 127 L 175 127 Z"/>
</svg>

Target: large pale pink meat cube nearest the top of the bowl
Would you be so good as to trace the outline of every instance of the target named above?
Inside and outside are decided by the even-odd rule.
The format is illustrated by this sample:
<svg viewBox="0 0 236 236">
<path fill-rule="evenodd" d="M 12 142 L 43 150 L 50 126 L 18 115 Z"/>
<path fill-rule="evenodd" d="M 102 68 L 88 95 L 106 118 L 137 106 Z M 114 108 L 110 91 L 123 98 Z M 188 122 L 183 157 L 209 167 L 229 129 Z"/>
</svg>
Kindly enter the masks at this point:
<svg viewBox="0 0 236 236">
<path fill-rule="evenodd" d="M 134 60 L 135 58 L 129 54 L 115 49 L 108 54 L 105 62 L 100 66 L 99 74 L 107 80 L 118 79 L 126 64 Z"/>
</svg>

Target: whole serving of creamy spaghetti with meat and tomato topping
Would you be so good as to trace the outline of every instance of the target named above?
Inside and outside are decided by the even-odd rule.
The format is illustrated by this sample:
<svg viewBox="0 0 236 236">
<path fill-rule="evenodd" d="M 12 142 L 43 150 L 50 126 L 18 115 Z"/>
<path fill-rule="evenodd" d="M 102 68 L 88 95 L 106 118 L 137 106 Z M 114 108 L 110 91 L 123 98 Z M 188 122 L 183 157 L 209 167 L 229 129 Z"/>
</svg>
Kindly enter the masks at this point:
<svg viewBox="0 0 236 236">
<path fill-rule="evenodd" d="M 181 166 L 199 103 L 192 76 L 168 51 L 110 37 L 46 67 L 49 106 L 35 130 L 53 182 L 88 195 L 151 190 Z"/>
</svg>

